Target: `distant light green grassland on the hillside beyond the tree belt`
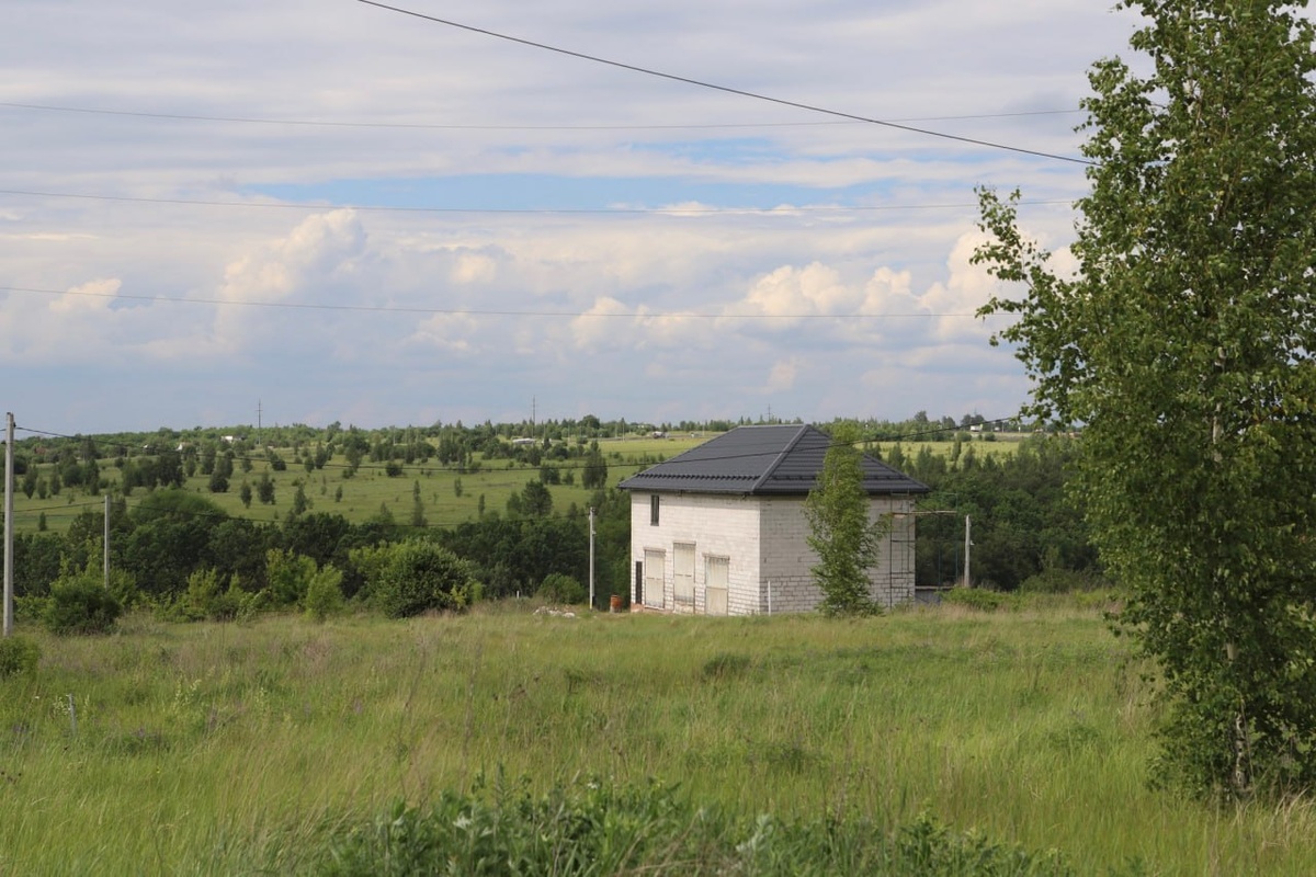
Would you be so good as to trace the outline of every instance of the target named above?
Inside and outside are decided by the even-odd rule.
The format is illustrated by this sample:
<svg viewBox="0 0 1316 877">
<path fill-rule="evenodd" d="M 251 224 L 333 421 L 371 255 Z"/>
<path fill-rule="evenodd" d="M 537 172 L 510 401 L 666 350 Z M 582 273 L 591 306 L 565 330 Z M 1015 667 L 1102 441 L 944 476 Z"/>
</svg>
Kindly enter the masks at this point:
<svg viewBox="0 0 1316 877">
<path fill-rule="evenodd" d="M 599 446 L 604 459 L 609 465 L 608 484 L 617 484 L 625 477 L 659 459 L 669 459 L 687 451 L 711 438 L 709 435 L 674 434 L 670 438 L 632 438 L 632 439 L 603 439 Z M 1013 452 L 1016 442 L 974 442 L 973 448 L 979 458 L 984 455 L 1000 455 Z M 901 450 L 908 458 L 919 454 L 924 444 L 901 444 Z M 933 454 L 950 454 L 951 442 L 933 442 L 926 447 Z M 890 452 L 891 444 L 882 446 L 884 452 Z M 307 498 L 312 502 L 313 511 L 329 511 L 341 514 L 354 523 L 359 523 L 371 515 L 379 514 L 382 506 L 387 508 L 399 523 L 411 519 L 415 485 L 420 484 L 421 502 L 425 509 L 425 519 L 429 526 L 450 527 L 462 521 L 474 519 L 479 514 L 479 500 L 484 497 L 487 510 L 504 511 L 508 497 L 521 490 L 526 481 L 538 479 L 538 467 L 524 464 L 511 464 L 508 460 L 480 460 L 478 472 L 457 472 L 451 467 L 445 467 L 434 460 L 424 465 L 404 467 L 401 476 L 390 477 L 384 472 L 382 463 L 363 463 L 351 477 L 343 477 L 347 471 L 346 459 L 342 455 L 334 456 L 322 469 L 308 473 L 301 464 L 293 460 L 290 448 L 278 451 L 288 468 L 283 472 L 270 469 L 268 463 L 257 460 L 251 472 L 243 473 L 238 468 L 226 493 L 211 493 L 208 489 L 208 476 L 193 475 L 187 480 L 187 489 L 193 490 L 217 504 L 233 517 L 250 518 L 253 521 L 275 521 L 288 513 L 292 506 L 297 484 L 303 486 Z M 558 484 L 550 488 L 553 493 L 554 509 L 566 511 L 574 502 L 578 508 L 586 508 L 590 502 L 590 492 L 580 486 L 580 460 L 566 460 L 554 463 L 561 467 L 562 475 L 574 475 L 575 484 Z M 38 472 L 49 473 L 51 467 L 39 467 Z M 243 480 L 255 486 L 262 473 L 268 473 L 275 484 L 275 502 L 262 505 L 253 500 L 249 508 L 240 500 L 240 488 Z M 113 460 L 101 460 L 100 475 L 112 485 L 121 481 L 120 471 L 113 465 Z M 461 483 L 461 496 L 458 496 L 457 483 Z M 139 501 L 146 492 L 137 489 L 129 497 L 129 505 L 134 500 Z M 41 515 L 46 518 L 46 529 L 63 533 L 68 523 L 87 508 L 100 509 L 103 500 L 95 492 L 88 493 L 82 488 L 64 488 L 58 496 L 41 498 L 33 494 L 30 498 L 17 492 L 14 496 L 14 527 L 18 533 L 32 533 L 38 529 Z"/>
</svg>

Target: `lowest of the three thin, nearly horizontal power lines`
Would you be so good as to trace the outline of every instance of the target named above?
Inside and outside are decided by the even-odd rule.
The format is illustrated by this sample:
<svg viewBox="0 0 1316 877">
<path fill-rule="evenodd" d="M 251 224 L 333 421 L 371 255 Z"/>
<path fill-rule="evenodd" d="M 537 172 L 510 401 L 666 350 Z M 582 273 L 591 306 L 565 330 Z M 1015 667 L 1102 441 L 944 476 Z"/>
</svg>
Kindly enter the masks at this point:
<svg viewBox="0 0 1316 877">
<path fill-rule="evenodd" d="M 886 314 L 716 314 L 699 312 L 588 312 L 588 310 L 480 310 L 461 308 L 399 308 L 392 305 L 328 305 L 296 301 L 232 301 L 228 298 L 171 298 L 167 296 L 133 296 L 113 292 L 83 292 L 72 289 L 41 289 L 36 287 L 0 287 L 0 292 L 30 292 L 47 296 L 80 296 L 124 301 L 150 301 L 172 305 L 221 305 L 240 308 L 278 308 L 284 310 L 341 310 L 349 313 L 425 314 L 446 317 L 562 317 L 562 318 L 624 318 L 624 320 L 937 320 L 976 318 L 975 313 L 886 313 Z"/>
</svg>

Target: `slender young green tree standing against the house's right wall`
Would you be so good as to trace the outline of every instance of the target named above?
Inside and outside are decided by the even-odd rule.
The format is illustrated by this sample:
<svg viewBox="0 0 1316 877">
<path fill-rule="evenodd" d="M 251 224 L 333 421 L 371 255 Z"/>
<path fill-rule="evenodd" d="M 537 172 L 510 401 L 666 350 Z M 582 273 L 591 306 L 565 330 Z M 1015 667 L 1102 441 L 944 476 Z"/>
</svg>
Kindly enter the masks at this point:
<svg viewBox="0 0 1316 877">
<path fill-rule="evenodd" d="M 836 430 L 822 460 L 817 486 L 804 501 L 809 522 L 808 543 L 819 555 L 812 568 L 822 590 L 821 611 L 862 615 L 876 611 L 869 569 L 878 563 L 882 523 L 870 519 L 863 489 L 862 454 L 853 429 Z"/>
</svg>

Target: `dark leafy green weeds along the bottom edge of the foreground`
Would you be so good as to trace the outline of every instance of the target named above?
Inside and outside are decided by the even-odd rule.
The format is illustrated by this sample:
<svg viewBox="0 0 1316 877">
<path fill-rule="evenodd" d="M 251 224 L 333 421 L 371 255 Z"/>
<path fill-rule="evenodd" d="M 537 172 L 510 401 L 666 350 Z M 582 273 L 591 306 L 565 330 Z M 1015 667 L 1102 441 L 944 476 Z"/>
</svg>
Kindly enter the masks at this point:
<svg viewBox="0 0 1316 877">
<path fill-rule="evenodd" d="M 379 874 L 1071 874 L 1030 853 L 921 815 L 895 832 L 865 819 L 738 818 L 657 782 L 578 780 L 533 794 L 483 781 L 428 806 L 395 803 L 340 828 L 313 864 L 337 877 Z"/>
</svg>

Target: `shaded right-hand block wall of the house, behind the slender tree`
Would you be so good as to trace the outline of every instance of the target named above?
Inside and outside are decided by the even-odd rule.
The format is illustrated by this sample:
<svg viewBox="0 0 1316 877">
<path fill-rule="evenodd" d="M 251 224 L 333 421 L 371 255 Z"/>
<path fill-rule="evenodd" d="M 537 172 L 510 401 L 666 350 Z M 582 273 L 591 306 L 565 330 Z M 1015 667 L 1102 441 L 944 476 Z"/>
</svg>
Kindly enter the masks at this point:
<svg viewBox="0 0 1316 877">
<path fill-rule="evenodd" d="M 757 611 L 812 611 L 822 602 L 822 592 L 813 581 L 812 568 L 817 564 L 817 555 L 808 544 L 809 523 L 804 515 L 804 497 L 772 497 L 763 498 L 762 502 L 759 565 L 763 594 Z M 871 521 L 894 515 L 882 539 L 878 563 L 869 569 L 873 582 L 869 593 L 879 606 L 890 607 L 913 600 L 915 518 L 908 514 L 911 511 L 912 497 L 871 500 Z"/>
</svg>

